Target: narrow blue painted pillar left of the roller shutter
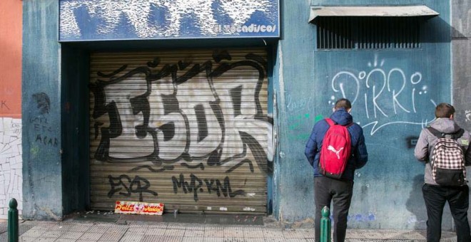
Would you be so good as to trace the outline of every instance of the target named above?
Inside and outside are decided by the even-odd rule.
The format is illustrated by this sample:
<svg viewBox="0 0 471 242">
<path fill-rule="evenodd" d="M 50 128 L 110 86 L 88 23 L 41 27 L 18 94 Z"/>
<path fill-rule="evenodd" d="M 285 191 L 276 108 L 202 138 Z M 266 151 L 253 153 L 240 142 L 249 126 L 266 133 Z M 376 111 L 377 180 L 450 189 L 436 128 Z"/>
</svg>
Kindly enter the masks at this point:
<svg viewBox="0 0 471 242">
<path fill-rule="evenodd" d="M 23 1 L 23 216 L 61 219 L 61 75 L 54 0 Z"/>
</svg>

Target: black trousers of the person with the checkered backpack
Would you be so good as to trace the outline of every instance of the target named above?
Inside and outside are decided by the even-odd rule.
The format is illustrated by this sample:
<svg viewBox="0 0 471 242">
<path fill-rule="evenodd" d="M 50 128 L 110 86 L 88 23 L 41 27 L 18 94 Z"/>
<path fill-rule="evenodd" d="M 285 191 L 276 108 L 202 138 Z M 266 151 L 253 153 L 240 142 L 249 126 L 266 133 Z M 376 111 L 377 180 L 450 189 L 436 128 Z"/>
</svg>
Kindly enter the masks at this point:
<svg viewBox="0 0 471 242">
<path fill-rule="evenodd" d="M 422 193 L 427 206 L 427 242 L 440 241 L 443 207 L 447 201 L 455 221 L 457 242 L 471 242 L 470 224 L 467 221 L 469 187 L 424 184 Z"/>
</svg>

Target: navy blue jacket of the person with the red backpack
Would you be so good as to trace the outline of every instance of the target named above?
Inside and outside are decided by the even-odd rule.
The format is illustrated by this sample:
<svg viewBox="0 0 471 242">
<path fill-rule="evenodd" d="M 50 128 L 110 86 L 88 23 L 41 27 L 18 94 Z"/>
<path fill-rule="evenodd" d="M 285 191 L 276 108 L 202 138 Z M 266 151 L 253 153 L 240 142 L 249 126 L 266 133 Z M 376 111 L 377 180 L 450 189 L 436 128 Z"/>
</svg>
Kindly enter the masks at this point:
<svg viewBox="0 0 471 242">
<path fill-rule="evenodd" d="M 363 136 L 363 129 L 360 125 L 353 122 L 353 117 L 345 109 L 339 108 L 335 110 L 330 119 L 339 125 L 350 125 L 347 129 L 350 133 L 350 140 L 352 142 L 351 156 L 348 159 L 347 167 L 343 173 L 341 179 L 353 180 L 355 169 L 363 167 L 368 162 L 368 152 L 365 145 L 365 137 Z M 314 168 L 314 177 L 322 176 L 318 172 L 318 163 L 320 148 L 324 140 L 325 132 L 327 132 L 329 124 L 325 120 L 316 122 L 311 132 L 308 143 L 305 148 L 305 155 L 308 158 L 309 163 Z"/>
</svg>

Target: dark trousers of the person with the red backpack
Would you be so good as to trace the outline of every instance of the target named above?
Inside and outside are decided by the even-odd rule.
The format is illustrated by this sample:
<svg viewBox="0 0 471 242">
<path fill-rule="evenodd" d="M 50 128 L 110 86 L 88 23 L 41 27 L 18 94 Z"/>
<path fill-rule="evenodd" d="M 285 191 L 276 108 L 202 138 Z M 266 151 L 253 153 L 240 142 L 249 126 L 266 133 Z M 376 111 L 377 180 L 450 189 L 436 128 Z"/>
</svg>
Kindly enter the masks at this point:
<svg viewBox="0 0 471 242">
<path fill-rule="evenodd" d="M 315 196 L 315 241 L 320 241 L 320 218 L 324 206 L 330 208 L 333 201 L 333 239 L 335 242 L 345 241 L 347 231 L 347 216 L 352 201 L 353 181 L 330 179 L 328 177 L 314 178 Z"/>
</svg>

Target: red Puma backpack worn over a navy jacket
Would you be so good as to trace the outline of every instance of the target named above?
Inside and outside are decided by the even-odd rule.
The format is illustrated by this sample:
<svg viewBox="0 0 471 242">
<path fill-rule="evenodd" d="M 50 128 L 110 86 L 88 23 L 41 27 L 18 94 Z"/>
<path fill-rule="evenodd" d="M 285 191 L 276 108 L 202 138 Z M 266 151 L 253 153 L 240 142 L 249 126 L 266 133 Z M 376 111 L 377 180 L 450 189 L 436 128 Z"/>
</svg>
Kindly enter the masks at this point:
<svg viewBox="0 0 471 242">
<path fill-rule="evenodd" d="M 324 177 L 340 179 L 350 158 L 352 142 L 347 127 L 351 124 L 335 125 L 330 118 L 326 118 L 325 121 L 330 127 L 325 132 L 322 148 L 320 148 L 319 173 Z"/>
</svg>

